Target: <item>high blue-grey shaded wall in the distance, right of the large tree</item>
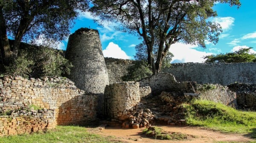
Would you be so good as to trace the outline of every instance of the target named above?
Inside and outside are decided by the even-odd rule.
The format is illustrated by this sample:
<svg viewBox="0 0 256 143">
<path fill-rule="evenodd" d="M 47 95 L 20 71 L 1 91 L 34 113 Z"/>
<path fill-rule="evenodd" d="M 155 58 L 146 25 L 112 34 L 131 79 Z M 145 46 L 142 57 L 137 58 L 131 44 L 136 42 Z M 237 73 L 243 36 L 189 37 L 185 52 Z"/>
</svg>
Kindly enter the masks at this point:
<svg viewBox="0 0 256 143">
<path fill-rule="evenodd" d="M 177 81 L 198 84 L 256 83 L 256 63 L 177 63 L 162 71 L 171 73 Z"/>
</svg>

